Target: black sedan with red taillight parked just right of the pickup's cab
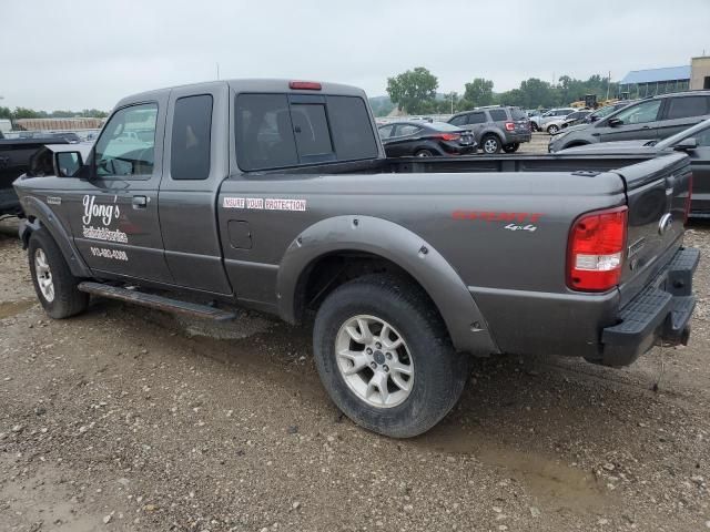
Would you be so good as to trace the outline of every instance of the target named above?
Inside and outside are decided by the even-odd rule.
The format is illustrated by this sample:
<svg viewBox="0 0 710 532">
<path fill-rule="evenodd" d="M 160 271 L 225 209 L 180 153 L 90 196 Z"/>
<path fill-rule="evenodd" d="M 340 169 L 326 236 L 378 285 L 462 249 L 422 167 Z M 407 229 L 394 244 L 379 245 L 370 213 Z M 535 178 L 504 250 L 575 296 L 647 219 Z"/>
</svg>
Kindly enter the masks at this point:
<svg viewBox="0 0 710 532">
<path fill-rule="evenodd" d="M 377 131 L 388 157 L 466 155 L 476 151 L 469 131 L 446 122 L 389 122 Z"/>
</svg>

